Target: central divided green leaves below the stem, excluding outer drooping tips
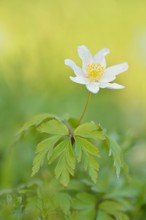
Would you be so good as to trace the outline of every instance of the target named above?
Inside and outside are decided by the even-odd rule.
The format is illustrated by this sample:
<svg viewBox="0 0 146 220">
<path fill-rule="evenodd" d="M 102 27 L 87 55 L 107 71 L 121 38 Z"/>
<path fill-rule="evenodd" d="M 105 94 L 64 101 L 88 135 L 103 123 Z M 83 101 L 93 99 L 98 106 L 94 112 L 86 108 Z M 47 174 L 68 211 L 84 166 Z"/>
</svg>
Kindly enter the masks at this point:
<svg viewBox="0 0 146 220">
<path fill-rule="evenodd" d="M 99 142 L 105 139 L 101 127 L 90 122 L 79 125 L 73 130 L 70 124 L 62 122 L 57 117 L 55 119 L 50 117 L 46 122 L 42 122 L 39 121 L 39 126 L 36 125 L 37 130 L 48 134 L 49 138 L 41 141 L 36 148 L 32 175 L 39 171 L 47 156 L 49 165 L 55 164 L 56 178 L 59 178 L 64 186 L 68 185 L 70 175 L 74 176 L 78 163 L 83 165 L 85 171 L 88 170 L 92 181 L 96 182 L 99 171 L 99 150 L 93 141 Z"/>
</svg>

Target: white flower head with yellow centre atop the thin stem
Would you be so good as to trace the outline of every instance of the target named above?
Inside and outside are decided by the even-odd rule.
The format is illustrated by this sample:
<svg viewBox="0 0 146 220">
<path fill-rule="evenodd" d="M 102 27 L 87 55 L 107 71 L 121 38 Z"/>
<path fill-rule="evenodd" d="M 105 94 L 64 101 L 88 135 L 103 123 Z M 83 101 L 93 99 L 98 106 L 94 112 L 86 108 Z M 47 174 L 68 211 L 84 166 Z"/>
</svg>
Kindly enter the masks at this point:
<svg viewBox="0 0 146 220">
<path fill-rule="evenodd" d="M 85 46 L 78 47 L 78 54 L 82 60 L 82 68 L 78 67 L 74 61 L 65 60 L 65 64 L 73 69 L 75 77 L 70 76 L 73 82 L 83 84 L 92 93 L 97 93 L 100 88 L 123 89 L 124 86 L 111 83 L 116 75 L 128 69 L 128 63 L 124 62 L 106 68 L 105 56 L 110 50 L 103 48 L 94 56 Z"/>
</svg>

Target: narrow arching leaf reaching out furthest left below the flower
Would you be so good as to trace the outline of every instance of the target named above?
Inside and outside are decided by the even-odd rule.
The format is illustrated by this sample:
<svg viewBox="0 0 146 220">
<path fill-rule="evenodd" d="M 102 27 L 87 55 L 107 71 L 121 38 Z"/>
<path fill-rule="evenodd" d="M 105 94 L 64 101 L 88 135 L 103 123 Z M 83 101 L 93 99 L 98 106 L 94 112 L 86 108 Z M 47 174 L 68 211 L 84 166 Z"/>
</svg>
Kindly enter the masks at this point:
<svg viewBox="0 0 146 220">
<path fill-rule="evenodd" d="M 33 127 L 33 126 L 38 126 L 40 125 L 42 122 L 44 122 L 47 119 L 51 119 L 51 118 L 55 118 L 54 115 L 51 114 L 39 114 L 36 115 L 35 117 L 32 118 L 31 121 L 26 122 L 23 127 L 18 131 L 17 135 L 20 135 L 22 132 L 28 130 L 29 128 Z"/>
</svg>

